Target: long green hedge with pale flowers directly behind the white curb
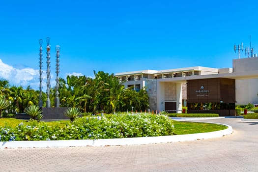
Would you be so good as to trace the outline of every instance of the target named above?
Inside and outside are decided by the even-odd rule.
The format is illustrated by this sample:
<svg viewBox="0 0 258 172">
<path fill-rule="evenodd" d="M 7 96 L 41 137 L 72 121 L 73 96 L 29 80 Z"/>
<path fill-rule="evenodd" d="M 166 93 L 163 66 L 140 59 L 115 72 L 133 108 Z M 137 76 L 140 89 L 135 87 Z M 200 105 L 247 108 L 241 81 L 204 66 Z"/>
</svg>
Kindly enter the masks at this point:
<svg viewBox="0 0 258 172">
<path fill-rule="evenodd" d="M 112 139 L 165 136 L 173 134 L 173 121 L 166 115 L 105 115 L 77 118 L 65 126 L 47 122 L 22 122 L 16 127 L 0 127 L 0 142 Z"/>
</svg>

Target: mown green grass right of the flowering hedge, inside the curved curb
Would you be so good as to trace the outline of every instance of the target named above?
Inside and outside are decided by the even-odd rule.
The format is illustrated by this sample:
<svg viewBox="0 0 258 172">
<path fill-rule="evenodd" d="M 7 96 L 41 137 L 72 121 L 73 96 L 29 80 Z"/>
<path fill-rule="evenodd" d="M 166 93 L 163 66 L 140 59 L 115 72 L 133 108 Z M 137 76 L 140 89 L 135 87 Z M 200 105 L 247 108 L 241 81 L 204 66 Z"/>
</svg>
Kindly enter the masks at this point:
<svg viewBox="0 0 258 172">
<path fill-rule="evenodd" d="M 206 132 L 224 130 L 227 128 L 228 128 L 227 126 L 220 125 L 220 124 L 174 121 L 174 134 L 177 134 L 177 135 L 206 133 Z"/>
</svg>

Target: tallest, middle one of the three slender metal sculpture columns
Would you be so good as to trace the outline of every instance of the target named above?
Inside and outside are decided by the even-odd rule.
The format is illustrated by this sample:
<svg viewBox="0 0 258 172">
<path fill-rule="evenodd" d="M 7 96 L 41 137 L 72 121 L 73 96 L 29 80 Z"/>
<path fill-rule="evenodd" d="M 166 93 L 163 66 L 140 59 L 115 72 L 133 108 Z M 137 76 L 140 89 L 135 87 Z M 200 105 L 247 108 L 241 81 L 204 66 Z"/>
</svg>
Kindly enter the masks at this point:
<svg viewBox="0 0 258 172">
<path fill-rule="evenodd" d="M 46 38 L 47 40 L 47 101 L 46 101 L 46 107 L 50 108 L 51 107 L 51 101 L 49 98 L 50 94 L 50 37 Z"/>
</svg>

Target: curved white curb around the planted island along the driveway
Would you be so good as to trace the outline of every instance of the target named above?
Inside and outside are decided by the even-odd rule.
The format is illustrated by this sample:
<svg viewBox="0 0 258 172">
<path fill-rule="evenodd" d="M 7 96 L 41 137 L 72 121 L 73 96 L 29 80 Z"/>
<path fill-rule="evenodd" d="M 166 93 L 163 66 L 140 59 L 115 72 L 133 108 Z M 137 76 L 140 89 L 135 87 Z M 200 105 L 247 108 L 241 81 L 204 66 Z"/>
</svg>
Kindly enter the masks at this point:
<svg viewBox="0 0 258 172">
<path fill-rule="evenodd" d="M 222 124 L 226 125 L 226 124 Z M 201 139 L 218 138 L 233 132 L 232 127 L 220 131 L 197 133 L 187 135 L 124 138 L 124 139 L 98 139 L 98 140 L 62 140 L 62 141 L 13 141 L 0 142 L 0 148 L 29 148 L 29 147 L 69 147 L 69 146 L 115 146 L 115 145 L 139 145 L 153 143 L 185 142 Z"/>
</svg>

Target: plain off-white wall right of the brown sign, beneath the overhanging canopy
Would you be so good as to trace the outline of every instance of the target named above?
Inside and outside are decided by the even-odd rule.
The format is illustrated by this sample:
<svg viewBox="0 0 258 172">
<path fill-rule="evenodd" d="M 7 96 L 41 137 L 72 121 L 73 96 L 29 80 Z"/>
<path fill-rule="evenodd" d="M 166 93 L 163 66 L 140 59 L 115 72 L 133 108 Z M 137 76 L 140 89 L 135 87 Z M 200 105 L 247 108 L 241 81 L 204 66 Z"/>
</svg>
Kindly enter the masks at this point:
<svg viewBox="0 0 258 172">
<path fill-rule="evenodd" d="M 258 79 L 235 80 L 236 105 L 258 104 Z"/>
</svg>

